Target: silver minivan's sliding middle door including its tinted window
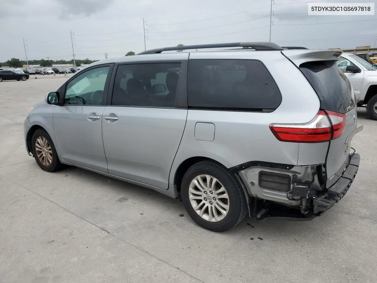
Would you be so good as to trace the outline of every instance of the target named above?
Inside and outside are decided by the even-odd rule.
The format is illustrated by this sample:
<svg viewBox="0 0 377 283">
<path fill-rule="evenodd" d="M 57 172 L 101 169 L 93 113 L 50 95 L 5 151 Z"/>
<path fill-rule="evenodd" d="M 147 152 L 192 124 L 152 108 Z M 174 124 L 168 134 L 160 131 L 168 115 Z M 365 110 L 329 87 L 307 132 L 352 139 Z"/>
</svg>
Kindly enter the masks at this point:
<svg viewBox="0 0 377 283">
<path fill-rule="evenodd" d="M 186 72 L 187 60 L 118 66 L 102 120 L 110 174 L 168 188 L 187 117 Z"/>
</svg>

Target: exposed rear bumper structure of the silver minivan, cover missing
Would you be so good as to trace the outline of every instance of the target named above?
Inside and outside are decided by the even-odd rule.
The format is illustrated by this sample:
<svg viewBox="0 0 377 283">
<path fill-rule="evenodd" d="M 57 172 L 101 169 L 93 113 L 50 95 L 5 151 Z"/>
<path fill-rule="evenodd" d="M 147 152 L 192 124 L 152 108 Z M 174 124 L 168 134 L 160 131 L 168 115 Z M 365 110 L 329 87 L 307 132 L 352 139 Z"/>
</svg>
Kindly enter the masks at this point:
<svg viewBox="0 0 377 283">
<path fill-rule="evenodd" d="M 321 191 L 313 191 L 314 184 L 308 180 L 303 182 L 297 180 L 296 176 L 298 174 L 301 177 L 313 174 L 313 170 L 310 167 L 293 166 L 282 170 L 254 165 L 251 168 L 239 171 L 238 174 L 244 181 L 249 194 L 254 198 L 254 201 L 251 201 L 254 207 L 251 207 L 250 210 L 254 211 L 253 214 L 256 215 L 257 219 L 265 220 L 266 218 L 279 217 L 305 221 L 322 215 L 323 212 L 332 208 L 335 203 L 344 197 L 356 177 L 359 164 L 359 154 L 349 155 L 348 166 L 340 178 L 329 189 L 322 189 Z M 262 172 L 261 170 L 269 171 L 272 175 L 276 175 L 276 182 L 270 181 L 267 183 L 268 189 L 262 186 L 264 180 L 261 178 L 261 174 L 257 174 Z M 283 186 L 274 188 L 273 185 L 276 185 L 277 182 L 282 183 L 282 179 L 279 178 L 277 173 L 278 170 L 280 173 L 287 174 L 288 177 L 291 176 L 289 179 L 289 188 L 291 189 L 287 190 L 285 188 L 286 181 L 284 181 L 284 189 L 282 189 Z"/>
</svg>

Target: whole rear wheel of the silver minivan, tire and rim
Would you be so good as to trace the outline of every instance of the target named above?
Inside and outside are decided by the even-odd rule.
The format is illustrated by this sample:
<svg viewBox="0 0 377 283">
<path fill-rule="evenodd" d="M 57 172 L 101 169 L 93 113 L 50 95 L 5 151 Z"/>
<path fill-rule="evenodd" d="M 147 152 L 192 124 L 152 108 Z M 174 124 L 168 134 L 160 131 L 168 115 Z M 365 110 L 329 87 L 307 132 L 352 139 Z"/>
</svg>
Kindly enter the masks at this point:
<svg viewBox="0 0 377 283">
<path fill-rule="evenodd" d="M 182 179 L 181 197 L 190 217 L 211 231 L 233 228 L 247 213 L 246 197 L 236 177 L 209 160 L 187 170 Z"/>
</svg>

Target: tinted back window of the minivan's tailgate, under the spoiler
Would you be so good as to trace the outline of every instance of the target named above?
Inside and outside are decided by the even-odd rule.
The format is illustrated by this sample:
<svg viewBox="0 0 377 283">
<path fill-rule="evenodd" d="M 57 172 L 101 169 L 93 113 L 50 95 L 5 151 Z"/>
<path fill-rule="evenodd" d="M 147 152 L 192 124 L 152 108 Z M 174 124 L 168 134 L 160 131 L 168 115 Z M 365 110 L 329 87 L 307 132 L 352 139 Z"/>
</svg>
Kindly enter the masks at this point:
<svg viewBox="0 0 377 283">
<path fill-rule="evenodd" d="M 356 106 L 351 83 L 335 61 L 303 63 L 300 70 L 317 92 L 322 109 L 346 113 Z"/>
</svg>

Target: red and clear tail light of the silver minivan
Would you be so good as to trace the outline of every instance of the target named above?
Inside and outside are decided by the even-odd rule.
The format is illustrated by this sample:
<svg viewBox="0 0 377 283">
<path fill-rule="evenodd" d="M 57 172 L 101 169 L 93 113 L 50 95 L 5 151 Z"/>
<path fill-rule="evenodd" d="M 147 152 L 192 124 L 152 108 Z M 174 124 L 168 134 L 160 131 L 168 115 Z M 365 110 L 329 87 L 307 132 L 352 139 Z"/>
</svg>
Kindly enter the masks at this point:
<svg viewBox="0 0 377 283">
<path fill-rule="evenodd" d="M 320 143 L 339 138 L 346 126 L 346 115 L 320 110 L 306 124 L 272 124 L 271 132 L 280 141 L 294 143 Z"/>
</svg>

